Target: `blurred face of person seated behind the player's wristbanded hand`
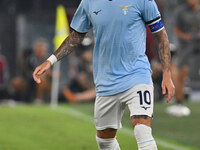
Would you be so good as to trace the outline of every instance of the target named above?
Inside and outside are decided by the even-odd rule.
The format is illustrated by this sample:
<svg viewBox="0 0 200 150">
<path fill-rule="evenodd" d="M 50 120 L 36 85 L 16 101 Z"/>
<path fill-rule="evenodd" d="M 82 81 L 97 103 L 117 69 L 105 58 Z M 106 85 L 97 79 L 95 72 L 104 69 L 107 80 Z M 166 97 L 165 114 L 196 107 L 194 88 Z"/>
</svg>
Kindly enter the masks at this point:
<svg viewBox="0 0 200 150">
<path fill-rule="evenodd" d="M 44 58 L 47 53 L 47 45 L 44 42 L 36 42 L 34 44 L 34 52 L 36 57 Z"/>
</svg>

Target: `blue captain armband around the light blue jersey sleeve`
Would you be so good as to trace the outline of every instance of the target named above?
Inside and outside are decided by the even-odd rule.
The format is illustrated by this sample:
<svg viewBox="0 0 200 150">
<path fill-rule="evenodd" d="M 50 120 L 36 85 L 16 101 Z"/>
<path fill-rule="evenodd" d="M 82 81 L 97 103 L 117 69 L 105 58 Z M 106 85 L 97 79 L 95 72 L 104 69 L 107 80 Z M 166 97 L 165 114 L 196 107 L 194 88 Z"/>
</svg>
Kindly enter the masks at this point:
<svg viewBox="0 0 200 150">
<path fill-rule="evenodd" d="M 151 30 L 152 33 L 159 32 L 164 28 L 163 22 L 160 17 L 157 18 L 155 21 L 147 23 L 147 25 L 149 26 L 149 29 Z"/>
</svg>

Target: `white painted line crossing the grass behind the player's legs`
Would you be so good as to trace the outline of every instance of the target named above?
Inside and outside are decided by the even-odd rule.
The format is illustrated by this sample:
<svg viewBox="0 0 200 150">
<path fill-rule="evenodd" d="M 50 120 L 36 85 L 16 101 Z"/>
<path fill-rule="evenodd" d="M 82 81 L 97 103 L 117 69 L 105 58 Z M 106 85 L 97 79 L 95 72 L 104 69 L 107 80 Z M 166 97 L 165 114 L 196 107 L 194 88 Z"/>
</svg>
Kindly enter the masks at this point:
<svg viewBox="0 0 200 150">
<path fill-rule="evenodd" d="M 82 113 L 82 112 L 80 112 L 80 111 L 78 111 L 76 109 L 73 109 L 71 107 L 58 107 L 58 108 L 55 108 L 53 110 L 55 110 L 57 112 L 61 112 L 61 113 L 65 113 L 65 114 L 74 116 L 74 117 L 76 117 L 78 119 L 82 119 L 82 120 L 94 123 L 93 117 L 91 117 L 89 115 L 86 115 L 86 114 L 84 114 L 84 113 Z M 121 132 L 123 134 L 126 134 L 128 136 L 134 137 L 133 136 L 133 130 L 131 130 L 131 129 L 123 127 L 122 129 L 119 130 L 119 132 Z M 156 138 L 156 143 L 158 145 L 162 146 L 162 147 L 170 148 L 170 149 L 173 149 L 173 150 L 190 150 L 189 148 L 185 148 L 183 146 L 177 146 L 175 144 L 166 142 L 166 141 L 158 139 L 158 138 Z"/>
</svg>

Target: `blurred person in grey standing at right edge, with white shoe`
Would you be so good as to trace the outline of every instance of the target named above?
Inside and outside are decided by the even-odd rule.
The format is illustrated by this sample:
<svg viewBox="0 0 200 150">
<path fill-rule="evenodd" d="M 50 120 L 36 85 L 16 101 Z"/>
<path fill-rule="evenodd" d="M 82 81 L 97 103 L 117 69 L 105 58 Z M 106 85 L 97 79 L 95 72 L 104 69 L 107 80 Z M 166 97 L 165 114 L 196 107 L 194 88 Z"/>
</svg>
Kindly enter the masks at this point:
<svg viewBox="0 0 200 150">
<path fill-rule="evenodd" d="M 189 71 L 190 61 L 200 54 L 200 6 L 199 0 L 186 0 L 176 12 L 174 32 L 179 39 L 178 73 L 176 82 L 176 103 L 167 112 L 176 116 L 187 116 L 189 108 L 183 106 L 184 86 Z"/>
</svg>

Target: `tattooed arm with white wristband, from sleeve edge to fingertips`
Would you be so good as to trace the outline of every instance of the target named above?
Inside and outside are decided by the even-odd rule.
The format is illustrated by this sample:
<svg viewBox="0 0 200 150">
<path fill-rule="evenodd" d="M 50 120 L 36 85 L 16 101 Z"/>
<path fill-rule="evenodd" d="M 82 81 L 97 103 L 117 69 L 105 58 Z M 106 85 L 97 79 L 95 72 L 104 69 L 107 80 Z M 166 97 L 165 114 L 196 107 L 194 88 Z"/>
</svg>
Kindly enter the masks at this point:
<svg viewBox="0 0 200 150">
<path fill-rule="evenodd" d="M 85 33 L 78 33 L 75 30 L 72 30 L 70 35 L 63 41 L 60 47 L 54 52 L 53 55 L 51 55 L 53 61 L 52 59 L 48 59 L 35 69 L 35 71 L 33 72 L 33 79 L 35 80 L 35 82 L 40 83 L 41 75 L 44 74 L 51 67 L 53 62 L 62 59 L 64 56 L 69 55 L 73 50 L 75 50 L 77 46 L 81 44 L 84 36 Z"/>
</svg>

